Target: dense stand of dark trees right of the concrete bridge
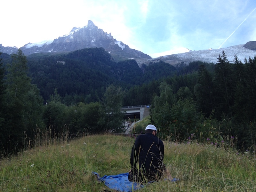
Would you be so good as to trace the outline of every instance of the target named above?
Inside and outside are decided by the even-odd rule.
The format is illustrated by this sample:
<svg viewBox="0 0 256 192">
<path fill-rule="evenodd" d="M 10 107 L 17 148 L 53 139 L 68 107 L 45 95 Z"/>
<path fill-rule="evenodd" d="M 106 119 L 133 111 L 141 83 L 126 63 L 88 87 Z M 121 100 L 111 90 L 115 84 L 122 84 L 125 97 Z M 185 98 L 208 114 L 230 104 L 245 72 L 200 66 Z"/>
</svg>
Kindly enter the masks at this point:
<svg viewBox="0 0 256 192">
<path fill-rule="evenodd" d="M 195 73 L 161 82 L 151 121 L 170 140 L 236 144 L 255 151 L 256 57 L 242 63 L 235 55 L 231 63 L 223 51 L 213 70 L 206 68 L 199 65 Z"/>
</svg>

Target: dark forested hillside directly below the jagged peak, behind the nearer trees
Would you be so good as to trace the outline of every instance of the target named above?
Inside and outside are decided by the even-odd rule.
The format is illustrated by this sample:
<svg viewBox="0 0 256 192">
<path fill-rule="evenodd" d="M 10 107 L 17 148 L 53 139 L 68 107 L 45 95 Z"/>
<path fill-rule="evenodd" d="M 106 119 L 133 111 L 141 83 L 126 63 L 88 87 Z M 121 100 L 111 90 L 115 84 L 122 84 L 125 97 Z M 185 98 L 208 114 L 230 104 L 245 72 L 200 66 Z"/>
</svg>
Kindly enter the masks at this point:
<svg viewBox="0 0 256 192">
<path fill-rule="evenodd" d="M 160 62 L 145 66 L 143 74 L 135 60 L 115 62 L 103 48 L 50 56 L 34 54 L 28 57 L 28 67 L 32 84 L 37 85 L 45 101 L 57 88 L 67 105 L 99 101 L 110 84 L 129 89 L 168 76 L 175 70 Z"/>
</svg>

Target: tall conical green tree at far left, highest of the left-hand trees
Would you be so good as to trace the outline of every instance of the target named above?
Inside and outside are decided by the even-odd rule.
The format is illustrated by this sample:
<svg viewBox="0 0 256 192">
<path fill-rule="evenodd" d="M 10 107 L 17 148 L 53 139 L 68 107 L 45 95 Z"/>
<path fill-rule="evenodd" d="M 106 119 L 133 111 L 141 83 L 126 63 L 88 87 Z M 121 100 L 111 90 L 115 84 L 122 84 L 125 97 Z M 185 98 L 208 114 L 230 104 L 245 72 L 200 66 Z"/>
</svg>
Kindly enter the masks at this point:
<svg viewBox="0 0 256 192">
<path fill-rule="evenodd" d="M 6 105 L 6 127 L 10 140 L 10 150 L 17 151 L 22 147 L 22 135 L 33 136 L 33 131 L 42 122 L 43 100 L 39 90 L 30 83 L 27 58 L 19 49 L 12 54 L 12 63 L 8 64 Z M 23 140 L 24 141 L 24 140 Z"/>
</svg>

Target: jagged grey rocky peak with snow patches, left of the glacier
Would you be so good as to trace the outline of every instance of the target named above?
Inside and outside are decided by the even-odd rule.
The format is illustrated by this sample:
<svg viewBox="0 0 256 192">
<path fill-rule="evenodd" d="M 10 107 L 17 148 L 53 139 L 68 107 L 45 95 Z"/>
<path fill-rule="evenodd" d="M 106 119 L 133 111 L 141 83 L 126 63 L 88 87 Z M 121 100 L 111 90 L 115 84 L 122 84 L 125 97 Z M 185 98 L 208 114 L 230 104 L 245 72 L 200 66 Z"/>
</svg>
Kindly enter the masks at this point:
<svg viewBox="0 0 256 192">
<path fill-rule="evenodd" d="M 131 49 L 128 45 L 121 41 L 117 41 L 102 29 L 99 29 L 94 23 L 89 20 L 87 26 L 82 28 L 74 27 L 69 34 L 54 39 L 53 41 L 44 41 L 42 43 L 31 44 L 28 43 L 20 47 L 25 55 L 40 52 L 71 52 L 84 48 L 103 47 L 112 55 L 124 57 L 124 59 L 151 59 L 151 57 L 143 52 Z M 10 47 L 1 48 L 4 53 L 11 54 L 16 52 L 18 48 Z"/>
</svg>

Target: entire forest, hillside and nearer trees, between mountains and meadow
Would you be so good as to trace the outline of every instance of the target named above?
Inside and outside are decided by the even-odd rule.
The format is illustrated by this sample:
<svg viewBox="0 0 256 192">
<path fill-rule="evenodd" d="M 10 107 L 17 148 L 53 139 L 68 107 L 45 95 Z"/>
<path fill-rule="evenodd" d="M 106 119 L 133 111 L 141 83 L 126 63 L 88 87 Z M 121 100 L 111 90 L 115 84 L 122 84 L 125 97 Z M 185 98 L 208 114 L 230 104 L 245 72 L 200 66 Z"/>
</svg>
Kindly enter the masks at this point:
<svg viewBox="0 0 256 192">
<path fill-rule="evenodd" d="M 164 140 L 255 151 L 256 57 L 228 61 L 222 52 L 216 64 L 141 68 L 135 60 L 116 62 L 102 48 L 27 57 L 19 50 L 0 58 L 2 156 L 33 146 L 35 135 L 49 129 L 68 138 L 123 132 L 120 108 L 148 104 Z"/>
</svg>

